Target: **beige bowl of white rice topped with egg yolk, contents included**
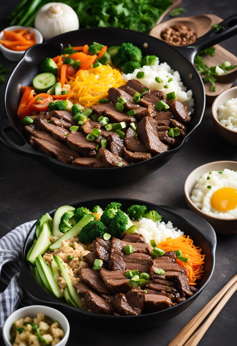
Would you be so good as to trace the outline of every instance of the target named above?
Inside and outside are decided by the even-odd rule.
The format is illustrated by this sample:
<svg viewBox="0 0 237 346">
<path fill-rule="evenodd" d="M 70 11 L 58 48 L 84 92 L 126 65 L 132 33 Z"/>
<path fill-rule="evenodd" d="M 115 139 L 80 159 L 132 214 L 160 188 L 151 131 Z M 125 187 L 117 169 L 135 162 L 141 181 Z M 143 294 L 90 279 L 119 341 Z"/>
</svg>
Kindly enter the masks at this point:
<svg viewBox="0 0 237 346">
<path fill-rule="evenodd" d="M 188 207 L 215 231 L 237 233 L 237 162 L 215 161 L 192 171 L 184 184 Z"/>
</svg>

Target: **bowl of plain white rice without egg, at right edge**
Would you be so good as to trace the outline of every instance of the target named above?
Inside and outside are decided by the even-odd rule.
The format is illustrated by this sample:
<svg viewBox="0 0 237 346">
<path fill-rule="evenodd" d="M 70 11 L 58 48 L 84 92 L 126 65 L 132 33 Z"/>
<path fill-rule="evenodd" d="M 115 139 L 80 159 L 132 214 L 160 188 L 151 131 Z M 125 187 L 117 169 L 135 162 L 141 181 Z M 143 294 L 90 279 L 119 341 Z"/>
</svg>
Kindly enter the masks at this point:
<svg viewBox="0 0 237 346">
<path fill-rule="evenodd" d="M 237 145 L 237 86 L 222 92 L 213 102 L 211 112 L 218 134 Z"/>
</svg>

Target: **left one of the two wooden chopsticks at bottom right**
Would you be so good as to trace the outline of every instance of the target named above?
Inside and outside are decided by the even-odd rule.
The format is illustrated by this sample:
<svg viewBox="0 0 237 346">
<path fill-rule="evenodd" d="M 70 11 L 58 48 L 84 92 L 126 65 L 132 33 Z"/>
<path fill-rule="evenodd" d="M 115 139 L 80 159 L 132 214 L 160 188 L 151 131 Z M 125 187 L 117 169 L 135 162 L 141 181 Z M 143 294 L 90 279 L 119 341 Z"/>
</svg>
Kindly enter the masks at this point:
<svg viewBox="0 0 237 346">
<path fill-rule="evenodd" d="M 237 282 L 237 274 L 235 276 L 233 276 L 232 279 L 230 279 L 230 281 L 227 282 L 227 284 L 204 306 L 204 308 L 202 310 L 200 310 L 197 313 L 196 316 L 194 316 L 193 319 L 191 319 L 190 322 L 188 322 L 188 324 L 186 324 L 186 326 L 174 337 L 174 339 L 168 344 L 168 346 L 183 346 L 184 343 L 187 341 L 187 339 L 193 334 L 195 329 L 201 324 L 201 322 L 204 320 L 204 318 L 207 317 L 207 315 L 211 312 L 211 310 L 221 300 L 223 295 L 225 295 L 225 293 L 230 288 L 232 288 L 231 286 L 234 285 L 236 282 Z M 231 295 L 229 296 L 229 298 L 231 297 Z M 214 320 L 214 318 L 213 318 L 213 320 Z M 192 346 L 193 345 L 194 344 L 192 344 Z M 187 346 L 187 345 L 185 344 L 185 346 Z"/>
</svg>

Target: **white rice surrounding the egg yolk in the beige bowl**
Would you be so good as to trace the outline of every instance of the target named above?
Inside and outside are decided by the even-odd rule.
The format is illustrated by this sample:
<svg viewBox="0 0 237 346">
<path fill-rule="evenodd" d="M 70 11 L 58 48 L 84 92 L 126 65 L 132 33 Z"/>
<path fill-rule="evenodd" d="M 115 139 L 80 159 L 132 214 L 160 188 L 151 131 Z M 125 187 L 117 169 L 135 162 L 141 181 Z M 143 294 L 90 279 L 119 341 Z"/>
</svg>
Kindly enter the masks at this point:
<svg viewBox="0 0 237 346">
<path fill-rule="evenodd" d="M 220 174 L 219 172 L 222 172 Z M 192 191 L 191 200 L 196 207 L 210 216 L 231 219 L 237 218 L 237 208 L 228 212 L 220 212 L 211 205 L 211 197 L 220 188 L 237 189 L 237 172 L 229 169 L 212 171 L 203 174 L 197 181 Z M 210 177 L 210 179 L 207 179 Z M 207 186 L 211 186 L 208 189 Z"/>
</svg>

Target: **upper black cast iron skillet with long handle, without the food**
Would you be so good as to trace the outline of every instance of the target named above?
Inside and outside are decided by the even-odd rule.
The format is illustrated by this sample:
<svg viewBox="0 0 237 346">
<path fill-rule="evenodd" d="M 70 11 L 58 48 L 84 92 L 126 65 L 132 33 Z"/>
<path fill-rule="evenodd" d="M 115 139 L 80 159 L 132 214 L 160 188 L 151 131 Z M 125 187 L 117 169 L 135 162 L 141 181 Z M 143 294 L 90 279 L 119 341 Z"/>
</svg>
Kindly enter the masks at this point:
<svg viewBox="0 0 237 346">
<path fill-rule="evenodd" d="M 193 60 L 196 53 L 202 49 L 237 34 L 237 15 L 224 20 L 219 25 L 222 27 L 221 29 L 212 29 L 196 41 L 191 46 L 192 48 L 174 48 L 152 36 L 118 28 L 90 28 L 71 31 L 29 48 L 12 72 L 7 83 L 5 92 L 6 114 L 3 115 L 0 122 L 1 142 L 15 153 L 34 157 L 58 174 L 70 177 L 87 177 L 90 179 L 86 179 L 85 181 L 90 183 L 93 182 L 95 176 L 103 176 L 104 179 L 100 179 L 100 184 L 102 181 L 106 185 L 121 184 L 133 180 L 134 175 L 140 178 L 158 170 L 184 146 L 202 120 L 205 108 L 205 92 L 200 75 L 193 66 Z M 107 46 L 120 45 L 122 42 L 132 42 L 134 45 L 140 47 L 144 54 L 157 55 L 160 62 L 167 62 L 172 69 L 179 71 L 187 90 L 192 89 L 193 91 L 195 106 L 192 120 L 188 125 L 188 133 L 178 147 L 154 156 L 147 161 L 128 167 L 95 169 L 76 167 L 59 162 L 37 152 L 28 144 L 21 129 L 19 129 L 19 122 L 16 115 L 20 101 L 21 86 L 31 85 L 34 76 L 41 72 L 40 63 L 43 58 L 61 54 L 62 45 L 67 46 L 70 43 L 71 45 L 78 46 L 86 43 L 91 44 L 93 41 Z"/>
</svg>

